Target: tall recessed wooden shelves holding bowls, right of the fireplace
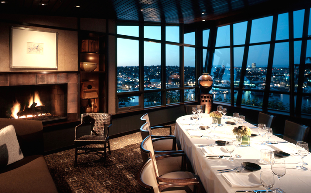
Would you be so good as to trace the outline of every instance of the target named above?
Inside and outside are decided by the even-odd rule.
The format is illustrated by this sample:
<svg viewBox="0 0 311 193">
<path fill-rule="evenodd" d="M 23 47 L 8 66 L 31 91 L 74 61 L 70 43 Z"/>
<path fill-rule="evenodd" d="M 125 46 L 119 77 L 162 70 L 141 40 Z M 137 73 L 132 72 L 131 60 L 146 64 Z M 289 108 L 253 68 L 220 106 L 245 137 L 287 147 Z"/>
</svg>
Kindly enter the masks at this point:
<svg viewBox="0 0 311 193">
<path fill-rule="evenodd" d="M 86 113 L 87 106 L 91 112 L 107 112 L 105 40 L 103 33 L 80 31 L 80 62 L 97 63 L 94 71 L 83 71 L 79 64 L 80 113 Z"/>
</svg>

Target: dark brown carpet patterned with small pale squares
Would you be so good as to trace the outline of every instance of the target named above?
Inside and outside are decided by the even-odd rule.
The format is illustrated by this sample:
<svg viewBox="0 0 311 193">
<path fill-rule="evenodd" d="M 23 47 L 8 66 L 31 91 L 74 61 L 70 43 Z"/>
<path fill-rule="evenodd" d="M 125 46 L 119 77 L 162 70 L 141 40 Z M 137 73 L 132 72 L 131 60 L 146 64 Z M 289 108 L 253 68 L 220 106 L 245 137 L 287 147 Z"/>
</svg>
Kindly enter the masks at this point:
<svg viewBox="0 0 311 193">
<path fill-rule="evenodd" d="M 159 128 L 152 130 L 152 134 L 169 135 L 169 131 Z M 135 193 L 139 192 L 136 174 L 142 165 L 141 142 L 139 132 L 111 139 L 106 167 L 102 156 L 95 152 L 79 155 L 77 167 L 73 167 L 74 149 L 46 155 L 45 159 L 59 193 Z"/>
</svg>

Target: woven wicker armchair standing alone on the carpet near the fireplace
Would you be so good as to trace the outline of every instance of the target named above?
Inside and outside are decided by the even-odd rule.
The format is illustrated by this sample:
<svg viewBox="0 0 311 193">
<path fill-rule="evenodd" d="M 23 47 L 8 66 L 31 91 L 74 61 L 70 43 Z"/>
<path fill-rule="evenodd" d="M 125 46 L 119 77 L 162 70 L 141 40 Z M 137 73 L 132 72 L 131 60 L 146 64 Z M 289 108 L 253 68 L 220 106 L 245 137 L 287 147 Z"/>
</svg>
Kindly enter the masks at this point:
<svg viewBox="0 0 311 193">
<path fill-rule="evenodd" d="M 89 126 L 91 132 L 90 135 L 83 135 L 85 133 L 85 127 Z M 108 126 L 107 126 L 108 125 Z M 106 165 L 106 150 L 110 151 L 109 142 L 109 128 L 111 126 L 111 115 L 107 113 L 84 113 L 81 115 L 81 124 L 75 129 L 74 145 L 76 147 L 74 166 L 77 166 L 77 157 L 80 154 L 88 152 L 97 152 L 104 154 L 104 166 Z M 80 128 L 80 129 L 79 129 Z M 89 131 L 89 130 L 88 130 Z M 81 136 L 82 133 L 82 136 Z M 79 135 L 80 134 L 80 135 Z M 104 145 L 104 147 L 95 147 L 95 144 Z M 83 153 L 79 153 L 79 150 L 84 150 Z M 104 151 L 104 153 L 99 152 Z"/>
</svg>

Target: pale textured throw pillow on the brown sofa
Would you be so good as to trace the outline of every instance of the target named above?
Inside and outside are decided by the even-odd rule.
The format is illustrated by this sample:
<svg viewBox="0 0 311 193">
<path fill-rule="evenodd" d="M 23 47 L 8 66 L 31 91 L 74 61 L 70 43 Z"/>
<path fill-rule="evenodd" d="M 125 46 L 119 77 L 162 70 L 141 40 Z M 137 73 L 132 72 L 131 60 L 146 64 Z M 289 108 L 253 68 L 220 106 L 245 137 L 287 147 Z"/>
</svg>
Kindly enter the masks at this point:
<svg viewBox="0 0 311 193">
<path fill-rule="evenodd" d="M 24 158 L 13 125 L 0 129 L 0 167 Z"/>
</svg>

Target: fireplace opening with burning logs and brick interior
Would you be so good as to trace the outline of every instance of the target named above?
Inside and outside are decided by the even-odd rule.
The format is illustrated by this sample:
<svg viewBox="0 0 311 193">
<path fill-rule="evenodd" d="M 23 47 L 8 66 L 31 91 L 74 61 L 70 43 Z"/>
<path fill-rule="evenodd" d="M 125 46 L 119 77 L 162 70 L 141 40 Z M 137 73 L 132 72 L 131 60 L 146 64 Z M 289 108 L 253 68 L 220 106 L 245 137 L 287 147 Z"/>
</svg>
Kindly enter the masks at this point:
<svg viewBox="0 0 311 193">
<path fill-rule="evenodd" d="M 67 84 L 3 86 L 1 91 L 1 118 L 67 120 Z"/>
</svg>

